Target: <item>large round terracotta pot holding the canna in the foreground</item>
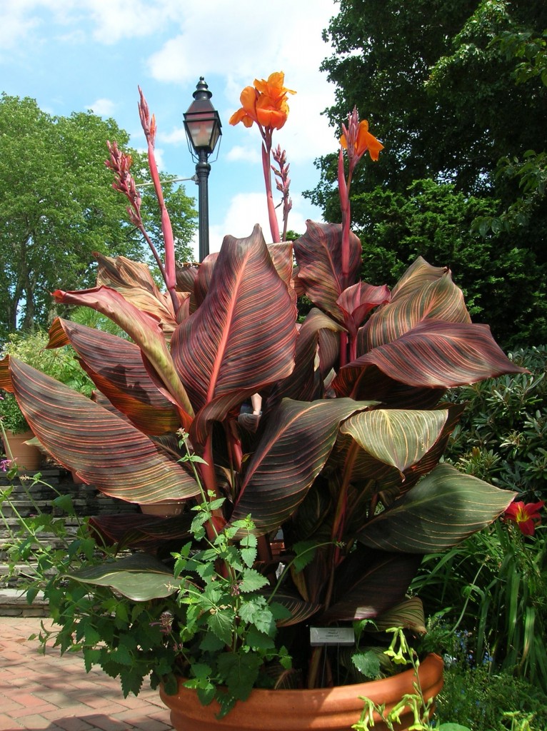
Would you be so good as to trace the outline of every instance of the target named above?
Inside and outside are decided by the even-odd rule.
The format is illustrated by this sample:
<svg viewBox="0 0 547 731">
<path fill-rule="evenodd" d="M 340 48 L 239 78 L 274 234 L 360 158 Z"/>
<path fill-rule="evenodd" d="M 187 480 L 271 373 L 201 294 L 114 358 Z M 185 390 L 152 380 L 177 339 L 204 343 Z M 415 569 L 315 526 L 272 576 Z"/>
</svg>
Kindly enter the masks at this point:
<svg viewBox="0 0 547 731">
<path fill-rule="evenodd" d="M 442 659 L 428 655 L 420 664 L 420 685 L 428 700 L 442 688 Z M 361 696 L 374 702 L 385 703 L 389 711 L 405 693 L 413 693 L 413 670 L 406 670 L 392 678 L 369 683 L 357 683 L 317 690 L 261 690 L 252 691 L 245 702 L 235 707 L 222 719 L 216 719 L 219 711 L 216 702 L 201 705 L 195 691 L 184 688 L 182 681 L 178 693 L 167 695 L 160 689 L 162 701 L 171 709 L 171 724 L 176 731 L 350 731 L 363 711 Z M 374 714 L 374 731 L 387 731 L 380 717 Z M 414 716 L 410 711 L 401 714 L 398 731 L 408 729 Z"/>
</svg>

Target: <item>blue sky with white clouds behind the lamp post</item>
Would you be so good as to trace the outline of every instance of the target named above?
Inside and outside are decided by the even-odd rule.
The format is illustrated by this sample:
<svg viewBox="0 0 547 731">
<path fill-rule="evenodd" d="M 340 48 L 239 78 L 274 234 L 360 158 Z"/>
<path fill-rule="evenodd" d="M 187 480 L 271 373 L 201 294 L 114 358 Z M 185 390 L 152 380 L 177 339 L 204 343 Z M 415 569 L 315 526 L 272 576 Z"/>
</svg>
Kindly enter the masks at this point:
<svg viewBox="0 0 547 731">
<path fill-rule="evenodd" d="M 274 145 L 290 162 L 289 227 L 303 232 L 306 219 L 320 218 L 301 196 L 317 183 L 314 158 L 337 149 L 321 115 L 334 90 L 319 71 L 331 55 L 321 31 L 337 12 L 336 0 L 0 0 L 0 91 L 30 96 L 53 115 L 92 109 L 113 117 L 142 149 L 140 86 L 156 114 L 159 167 L 190 177 L 182 115 L 203 75 L 223 132 L 209 178 L 215 251 L 225 234 L 247 236 L 255 223 L 269 239 L 260 135 L 228 120 L 244 86 L 283 71 L 298 93 Z M 197 196 L 195 183 L 183 184 Z"/>
</svg>

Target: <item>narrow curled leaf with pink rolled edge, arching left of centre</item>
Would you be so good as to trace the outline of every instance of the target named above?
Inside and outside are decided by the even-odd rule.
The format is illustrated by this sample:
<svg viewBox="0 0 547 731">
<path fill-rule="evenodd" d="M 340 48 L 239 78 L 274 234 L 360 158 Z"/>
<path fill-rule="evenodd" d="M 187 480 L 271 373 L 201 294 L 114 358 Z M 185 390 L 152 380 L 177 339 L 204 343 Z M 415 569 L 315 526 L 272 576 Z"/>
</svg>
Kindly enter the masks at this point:
<svg viewBox="0 0 547 731">
<path fill-rule="evenodd" d="M 184 428 L 189 428 L 194 410 L 173 366 L 162 327 L 156 317 L 141 311 L 108 287 L 83 289 L 80 292 L 61 292 L 58 289 L 53 292 L 53 297 L 64 304 L 91 307 L 116 322 L 139 346 L 143 352 L 143 363 L 153 371 L 151 377 L 154 374 L 165 387 L 166 395 L 178 407 Z"/>
</svg>

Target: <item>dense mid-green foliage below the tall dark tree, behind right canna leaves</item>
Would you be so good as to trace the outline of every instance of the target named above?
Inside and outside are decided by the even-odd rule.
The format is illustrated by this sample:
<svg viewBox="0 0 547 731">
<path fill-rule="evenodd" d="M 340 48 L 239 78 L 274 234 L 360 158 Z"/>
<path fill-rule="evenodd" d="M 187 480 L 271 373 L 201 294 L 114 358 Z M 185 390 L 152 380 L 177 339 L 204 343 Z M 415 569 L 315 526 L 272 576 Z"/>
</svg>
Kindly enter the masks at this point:
<svg viewBox="0 0 547 731">
<path fill-rule="evenodd" d="M 543 270 L 526 250 L 508 257 L 494 235 L 469 234 L 478 216 L 494 210 L 495 201 L 431 180 L 415 181 L 404 192 L 378 187 L 356 196 L 352 213 L 363 243 L 363 279 L 391 284 L 421 256 L 453 270 L 474 321 L 491 323 L 501 341 L 518 325 L 522 330 L 527 307 L 534 308 L 535 330 L 542 334 L 547 312 L 535 292 L 543 290 Z M 508 308 L 515 312 L 510 322 L 504 315 Z"/>
</svg>

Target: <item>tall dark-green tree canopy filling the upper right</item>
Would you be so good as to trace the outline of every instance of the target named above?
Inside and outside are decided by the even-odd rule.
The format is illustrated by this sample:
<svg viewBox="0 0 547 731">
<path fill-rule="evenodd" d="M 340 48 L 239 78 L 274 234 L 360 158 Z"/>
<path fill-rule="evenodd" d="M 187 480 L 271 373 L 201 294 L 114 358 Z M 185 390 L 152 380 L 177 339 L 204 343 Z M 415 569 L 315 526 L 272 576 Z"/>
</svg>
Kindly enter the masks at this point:
<svg viewBox="0 0 547 731">
<path fill-rule="evenodd" d="M 356 106 L 385 145 L 353 181 L 363 276 L 395 281 L 427 240 L 431 263 L 453 268 L 475 319 L 505 344 L 547 340 L 546 28 L 543 0 L 341 0 L 324 32 L 331 124 L 340 129 Z M 336 155 L 317 164 L 308 195 L 339 219 Z"/>
</svg>

